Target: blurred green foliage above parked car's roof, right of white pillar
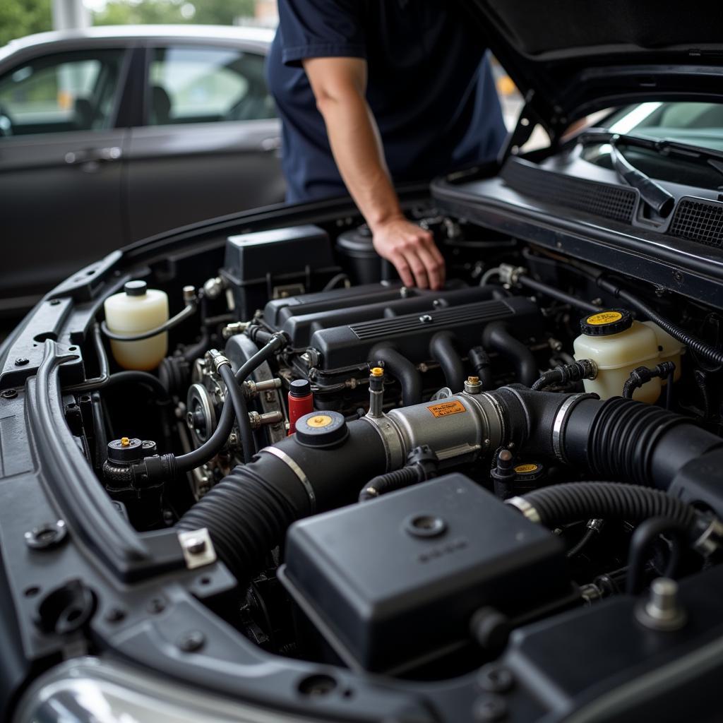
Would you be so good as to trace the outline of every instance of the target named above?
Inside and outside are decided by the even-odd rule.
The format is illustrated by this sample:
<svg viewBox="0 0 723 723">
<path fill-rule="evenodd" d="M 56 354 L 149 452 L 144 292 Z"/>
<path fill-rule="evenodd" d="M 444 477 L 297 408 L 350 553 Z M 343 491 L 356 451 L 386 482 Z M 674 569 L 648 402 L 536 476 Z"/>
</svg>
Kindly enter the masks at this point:
<svg viewBox="0 0 723 723">
<path fill-rule="evenodd" d="M 236 17 L 253 14 L 254 0 L 110 0 L 93 14 L 93 25 L 231 25 Z"/>
</svg>

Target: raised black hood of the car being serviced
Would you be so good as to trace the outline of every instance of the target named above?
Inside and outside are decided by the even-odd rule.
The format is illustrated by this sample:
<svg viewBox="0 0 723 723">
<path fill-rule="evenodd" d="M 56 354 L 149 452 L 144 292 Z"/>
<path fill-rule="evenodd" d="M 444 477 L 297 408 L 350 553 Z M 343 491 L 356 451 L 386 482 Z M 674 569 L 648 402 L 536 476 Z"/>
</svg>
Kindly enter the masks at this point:
<svg viewBox="0 0 723 723">
<path fill-rule="evenodd" d="M 722 96 L 723 4 L 472 0 L 489 48 L 557 136 L 601 108 Z"/>
</svg>

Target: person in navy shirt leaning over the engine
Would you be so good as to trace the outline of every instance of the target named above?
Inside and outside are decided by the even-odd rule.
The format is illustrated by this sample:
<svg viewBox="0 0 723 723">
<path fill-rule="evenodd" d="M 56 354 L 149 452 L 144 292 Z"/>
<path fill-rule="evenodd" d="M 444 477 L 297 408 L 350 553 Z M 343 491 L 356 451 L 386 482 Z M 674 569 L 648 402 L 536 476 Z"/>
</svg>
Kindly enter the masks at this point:
<svg viewBox="0 0 723 723">
<path fill-rule="evenodd" d="M 279 0 L 268 82 L 288 202 L 345 187 L 407 286 L 440 288 L 432 234 L 393 183 L 495 158 L 505 137 L 489 59 L 459 2 Z"/>
</svg>

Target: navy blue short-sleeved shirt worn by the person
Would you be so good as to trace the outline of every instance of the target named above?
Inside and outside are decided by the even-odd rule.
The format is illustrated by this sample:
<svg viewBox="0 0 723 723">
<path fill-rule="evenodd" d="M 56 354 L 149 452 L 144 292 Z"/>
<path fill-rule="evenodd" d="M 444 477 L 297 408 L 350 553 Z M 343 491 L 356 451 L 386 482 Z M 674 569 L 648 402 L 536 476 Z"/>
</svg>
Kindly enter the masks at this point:
<svg viewBox="0 0 723 723">
<path fill-rule="evenodd" d="M 289 202 L 346 193 L 301 61 L 367 60 L 367 102 L 393 181 L 495 158 L 505 138 L 489 62 L 464 0 L 279 0 L 268 83 L 283 121 Z"/>
</svg>

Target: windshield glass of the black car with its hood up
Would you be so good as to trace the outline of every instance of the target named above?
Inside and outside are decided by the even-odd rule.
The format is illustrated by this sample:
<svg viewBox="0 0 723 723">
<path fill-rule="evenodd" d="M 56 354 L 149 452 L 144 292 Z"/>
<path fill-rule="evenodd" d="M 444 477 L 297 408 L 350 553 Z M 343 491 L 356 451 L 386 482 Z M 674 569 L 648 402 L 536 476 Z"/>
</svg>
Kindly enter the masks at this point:
<svg viewBox="0 0 723 723">
<path fill-rule="evenodd" d="M 723 104 L 641 103 L 609 116 L 613 133 L 667 138 L 723 151 Z"/>
</svg>

